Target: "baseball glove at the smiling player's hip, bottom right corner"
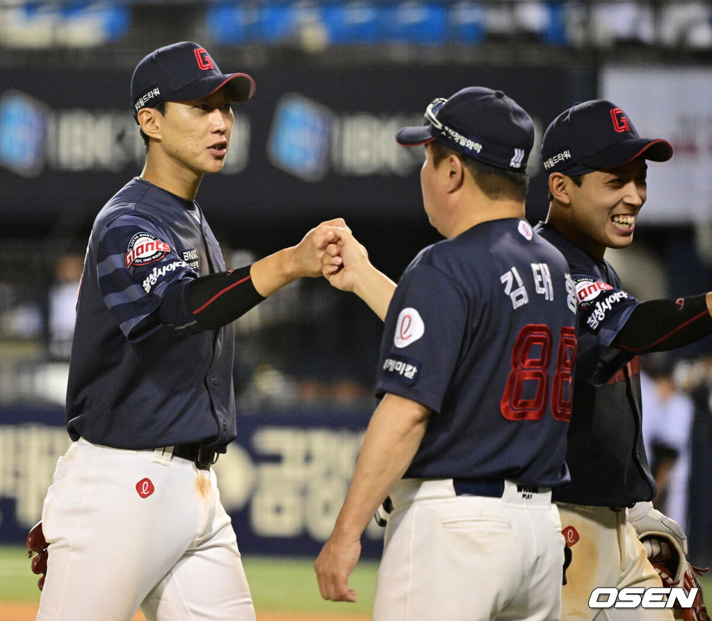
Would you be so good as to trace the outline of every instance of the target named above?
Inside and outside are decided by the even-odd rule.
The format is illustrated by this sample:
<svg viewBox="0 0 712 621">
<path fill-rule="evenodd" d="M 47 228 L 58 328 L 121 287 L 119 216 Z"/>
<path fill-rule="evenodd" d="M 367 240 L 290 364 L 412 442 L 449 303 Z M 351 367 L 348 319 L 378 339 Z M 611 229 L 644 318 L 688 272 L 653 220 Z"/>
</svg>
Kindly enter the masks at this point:
<svg viewBox="0 0 712 621">
<path fill-rule="evenodd" d="M 664 587 L 682 587 L 685 593 L 697 588 L 692 607 L 683 608 L 678 601 L 675 602 L 675 618 L 683 621 L 711 621 L 697 579 L 707 569 L 697 568 L 687 560 L 687 536 L 680 525 L 657 509 L 651 509 L 642 518 L 632 520 L 631 524 Z"/>
</svg>

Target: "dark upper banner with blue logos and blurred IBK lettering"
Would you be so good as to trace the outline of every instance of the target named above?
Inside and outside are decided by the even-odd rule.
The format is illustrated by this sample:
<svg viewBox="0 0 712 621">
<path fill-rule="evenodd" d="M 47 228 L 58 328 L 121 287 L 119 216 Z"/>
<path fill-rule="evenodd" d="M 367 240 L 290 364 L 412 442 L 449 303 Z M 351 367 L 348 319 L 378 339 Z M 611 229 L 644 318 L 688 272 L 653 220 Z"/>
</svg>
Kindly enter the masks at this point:
<svg viewBox="0 0 712 621">
<path fill-rule="evenodd" d="M 234 105 L 224 171 L 198 194 L 214 228 L 275 218 L 336 216 L 425 221 L 422 149 L 394 139 L 426 106 L 470 85 L 499 88 L 533 116 L 538 139 L 590 73 L 550 68 L 380 66 L 221 67 L 250 73 L 256 96 Z M 145 150 L 131 116 L 131 70 L 0 70 L 0 210 L 6 223 L 50 227 L 93 219 L 132 176 Z M 530 219 L 545 216 L 538 143 L 530 157 Z M 85 230 L 82 230 L 84 233 Z"/>
</svg>

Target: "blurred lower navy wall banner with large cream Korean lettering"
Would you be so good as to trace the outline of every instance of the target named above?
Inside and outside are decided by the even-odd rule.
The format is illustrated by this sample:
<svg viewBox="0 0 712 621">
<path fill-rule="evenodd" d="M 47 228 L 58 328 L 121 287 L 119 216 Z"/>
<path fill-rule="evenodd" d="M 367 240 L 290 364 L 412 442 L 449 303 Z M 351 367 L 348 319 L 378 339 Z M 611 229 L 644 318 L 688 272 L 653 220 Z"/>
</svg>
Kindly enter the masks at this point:
<svg viewBox="0 0 712 621">
<path fill-rule="evenodd" d="M 238 415 L 237 440 L 214 469 L 243 553 L 316 558 L 341 509 L 369 418 L 351 410 Z M 41 518 L 57 458 L 69 445 L 63 409 L 0 408 L 0 543 L 24 541 Z M 382 539 L 372 521 L 363 556 L 378 557 Z"/>
</svg>

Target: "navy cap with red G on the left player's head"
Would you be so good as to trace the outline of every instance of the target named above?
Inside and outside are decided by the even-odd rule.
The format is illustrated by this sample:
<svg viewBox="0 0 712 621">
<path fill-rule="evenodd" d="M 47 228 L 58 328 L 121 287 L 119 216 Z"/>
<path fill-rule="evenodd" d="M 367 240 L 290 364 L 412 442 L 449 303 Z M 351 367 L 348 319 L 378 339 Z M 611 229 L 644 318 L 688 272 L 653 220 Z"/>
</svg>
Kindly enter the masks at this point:
<svg viewBox="0 0 712 621">
<path fill-rule="evenodd" d="M 205 48 L 192 41 L 159 48 L 141 60 L 131 78 L 131 103 L 141 108 L 162 101 L 192 101 L 223 88 L 231 101 L 248 101 L 255 82 L 246 73 L 221 73 Z"/>
</svg>

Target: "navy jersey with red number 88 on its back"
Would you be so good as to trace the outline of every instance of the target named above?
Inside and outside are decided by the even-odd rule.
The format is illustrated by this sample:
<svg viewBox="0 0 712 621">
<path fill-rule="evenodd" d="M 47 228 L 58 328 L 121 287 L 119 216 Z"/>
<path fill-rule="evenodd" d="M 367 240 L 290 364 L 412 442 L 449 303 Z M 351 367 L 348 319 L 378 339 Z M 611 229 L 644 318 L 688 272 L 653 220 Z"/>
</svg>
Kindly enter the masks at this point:
<svg viewBox="0 0 712 621">
<path fill-rule="evenodd" d="M 523 219 L 422 250 L 389 305 L 377 383 L 434 411 L 405 477 L 566 482 L 575 308 L 564 258 Z"/>
</svg>

